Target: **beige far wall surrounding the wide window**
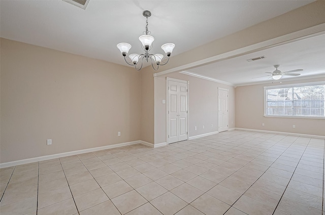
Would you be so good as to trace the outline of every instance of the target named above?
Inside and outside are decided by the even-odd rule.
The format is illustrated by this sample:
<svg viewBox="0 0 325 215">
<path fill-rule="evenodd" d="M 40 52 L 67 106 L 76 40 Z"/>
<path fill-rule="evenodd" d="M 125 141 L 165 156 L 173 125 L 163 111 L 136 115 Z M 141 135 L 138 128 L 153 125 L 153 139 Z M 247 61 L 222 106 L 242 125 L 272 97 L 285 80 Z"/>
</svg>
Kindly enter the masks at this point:
<svg viewBox="0 0 325 215">
<path fill-rule="evenodd" d="M 276 81 L 236 88 L 236 127 L 255 130 L 325 136 L 325 119 L 282 118 L 264 116 L 264 87 L 325 80 Z M 264 123 L 264 126 L 262 126 Z M 296 128 L 293 128 L 293 125 Z"/>
</svg>

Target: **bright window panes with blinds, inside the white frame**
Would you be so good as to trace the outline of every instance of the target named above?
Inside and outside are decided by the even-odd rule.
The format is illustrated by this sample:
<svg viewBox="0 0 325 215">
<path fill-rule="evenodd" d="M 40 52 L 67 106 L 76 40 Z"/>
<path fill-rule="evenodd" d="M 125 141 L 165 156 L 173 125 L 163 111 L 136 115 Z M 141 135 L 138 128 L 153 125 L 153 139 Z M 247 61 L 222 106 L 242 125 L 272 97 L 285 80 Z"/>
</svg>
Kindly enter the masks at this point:
<svg viewBox="0 0 325 215">
<path fill-rule="evenodd" d="M 264 92 L 265 116 L 325 118 L 324 83 L 265 87 Z"/>
</svg>

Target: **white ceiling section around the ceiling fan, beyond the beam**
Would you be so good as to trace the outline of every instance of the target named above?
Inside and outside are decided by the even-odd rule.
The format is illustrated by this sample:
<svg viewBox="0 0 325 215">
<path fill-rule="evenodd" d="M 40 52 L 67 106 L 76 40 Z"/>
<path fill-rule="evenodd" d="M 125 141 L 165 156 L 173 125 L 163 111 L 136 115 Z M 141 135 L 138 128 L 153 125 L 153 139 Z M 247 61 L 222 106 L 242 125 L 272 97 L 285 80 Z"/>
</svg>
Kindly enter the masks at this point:
<svg viewBox="0 0 325 215">
<path fill-rule="evenodd" d="M 265 56 L 265 58 L 247 61 L 247 59 L 261 56 Z M 282 76 L 278 81 L 313 76 L 325 77 L 324 59 L 325 34 L 322 34 L 263 51 L 188 69 L 187 71 L 238 86 L 261 81 L 274 81 L 270 76 L 265 76 L 270 75 L 265 72 L 273 72 L 275 70 L 274 65 L 280 65 L 278 69 L 282 72 L 303 69 L 300 72 L 293 72 L 301 74 L 299 76 Z"/>
</svg>

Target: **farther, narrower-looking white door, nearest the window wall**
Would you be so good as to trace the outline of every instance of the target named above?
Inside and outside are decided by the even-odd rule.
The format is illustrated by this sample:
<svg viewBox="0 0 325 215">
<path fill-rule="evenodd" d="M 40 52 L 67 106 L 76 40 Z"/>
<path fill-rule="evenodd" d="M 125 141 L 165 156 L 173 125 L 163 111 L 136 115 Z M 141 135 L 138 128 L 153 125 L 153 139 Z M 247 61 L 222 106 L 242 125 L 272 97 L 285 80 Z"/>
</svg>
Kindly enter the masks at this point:
<svg viewBox="0 0 325 215">
<path fill-rule="evenodd" d="M 228 131 L 228 90 L 218 88 L 218 132 Z"/>
</svg>

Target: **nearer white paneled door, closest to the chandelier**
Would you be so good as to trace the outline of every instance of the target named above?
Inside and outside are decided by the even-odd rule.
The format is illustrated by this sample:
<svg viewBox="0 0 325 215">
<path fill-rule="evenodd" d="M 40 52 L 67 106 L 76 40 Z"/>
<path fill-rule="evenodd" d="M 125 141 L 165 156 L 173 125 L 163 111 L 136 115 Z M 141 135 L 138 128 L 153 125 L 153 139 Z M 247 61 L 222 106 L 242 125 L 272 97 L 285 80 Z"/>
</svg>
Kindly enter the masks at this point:
<svg viewBox="0 0 325 215">
<path fill-rule="evenodd" d="M 187 83 L 168 81 L 168 143 L 187 140 Z"/>
</svg>

